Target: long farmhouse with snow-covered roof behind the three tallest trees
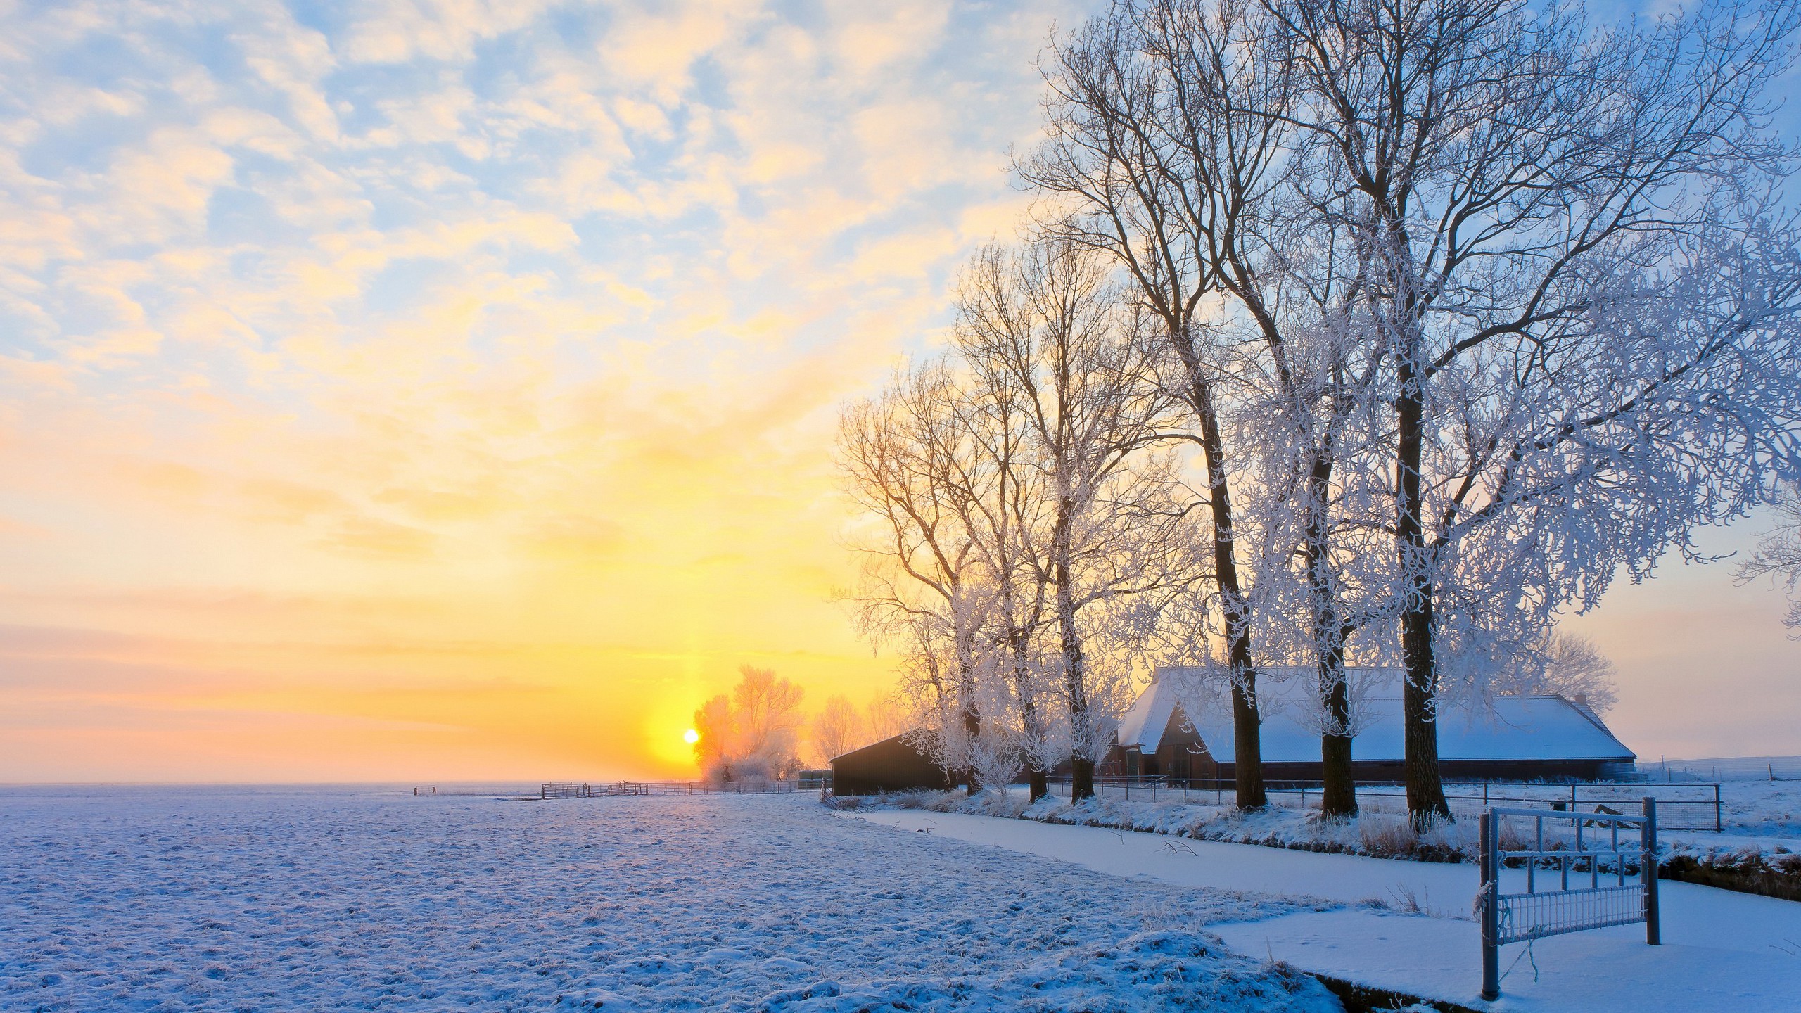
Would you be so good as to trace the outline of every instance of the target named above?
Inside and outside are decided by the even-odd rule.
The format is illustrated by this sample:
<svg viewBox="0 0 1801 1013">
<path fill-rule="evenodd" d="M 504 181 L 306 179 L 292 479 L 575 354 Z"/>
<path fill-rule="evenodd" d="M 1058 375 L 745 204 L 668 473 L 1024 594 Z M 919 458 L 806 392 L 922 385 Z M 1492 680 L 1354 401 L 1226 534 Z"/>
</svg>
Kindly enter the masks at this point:
<svg viewBox="0 0 1801 1013">
<path fill-rule="evenodd" d="M 1232 708 L 1225 687 L 1190 690 L 1203 707 L 1189 716 L 1178 687 L 1192 671 L 1158 672 L 1120 721 L 1106 777 L 1230 779 Z M 1263 775 L 1270 780 L 1318 780 L 1320 734 L 1308 719 L 1311 671 L 1270 671 L 1263 703 Z M 1273 678 L 1272 678 L 1273 676 Z M 1351 744 L 1358 780 L 1401 780 L 1401 674 L 1398 669 L 1347 672 L 1360 723 Z M 1217 698 L 1217 699 L 1214 699 Z M 1217 748 L 1217 750 L 1216 750 Z M 1608 777 L 1637 757 L 1601 716 L 1561 696 L 1495 698 L 1480 707 L 1444 707 L 1439 714 L 1439 770 L 1453 779 Z"/>
</svg>

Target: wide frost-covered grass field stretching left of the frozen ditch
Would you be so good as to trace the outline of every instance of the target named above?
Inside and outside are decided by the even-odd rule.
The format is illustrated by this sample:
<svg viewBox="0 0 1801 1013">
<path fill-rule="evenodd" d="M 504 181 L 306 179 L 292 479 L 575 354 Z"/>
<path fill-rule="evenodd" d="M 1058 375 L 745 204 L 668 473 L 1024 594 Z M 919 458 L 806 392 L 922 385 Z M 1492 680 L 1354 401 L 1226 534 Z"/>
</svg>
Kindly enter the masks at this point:
<svg viewBox="0 0 1801 1013">
<path fill-rule="evenodd" d="M 1338 1009 L 1115 880 L 801 797 L 0 789 L 5 1009 Z"/>
</svg>

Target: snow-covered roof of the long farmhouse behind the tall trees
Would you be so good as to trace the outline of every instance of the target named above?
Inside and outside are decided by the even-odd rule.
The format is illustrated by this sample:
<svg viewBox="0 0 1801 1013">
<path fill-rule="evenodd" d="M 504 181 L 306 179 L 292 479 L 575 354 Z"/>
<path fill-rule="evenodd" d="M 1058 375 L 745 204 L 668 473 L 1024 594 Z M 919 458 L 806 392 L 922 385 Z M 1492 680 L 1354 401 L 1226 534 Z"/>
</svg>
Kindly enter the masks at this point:
<svg viewBox="0 0 1801 1013">
<path fill-rule="evenodd" d="M 1176 696 L 1187 696 L 1183 708 L 1201 741 L 1214 755 L 1230 759 L 1232 753 L 1232 708 L 1223 685 L 1217 681 L 1192 683 L 1183 674 L 1192 669 L 1165 669 L 1160 678 L 1145 689 L 1145 696 L 1156 690 L 1160 699 L 1174 705 Z M 1299 674 L 1290 671 L 1272 671 L 1268 676 Z M 1308 671 L 1306 674 L 1311 674 Z M 1264 762 L 1313 762 L 1320 759 L 1320 732 L 1309 719 L 1311 680 L 1306 678 L 1268 678 L 1259 680 L 1259 703 L 1263 705 L 1263 759 Z M 1401 761 L 1405 746 L 1401 739 L 1401 674 L 1398 669 L 1362 669 L 1349 672 L 1353 685 L 1354 710 L 1360 728 L 1353 743 L 1358 761 Z M 1178 690 L 1180 687 L 1180 690 Z M 1183 692 L 1185 690 L 1185 692 Z M 1140 698 L 1142 701 L 1142 698 Z M 1133 705 L 1133 712 L 1136 712 Z M 1129 712 L 1131 714 L 1131 712 Z M 1163 721 L 1169 710 L 1163 710 Z M 1147 732 L 1151 739 L 1144 750 L 1154 750 L 1163 726 L 1156 725 Z M 1124 728 L 1120 744 L 1126 741 Z M 1221 748 L 1225 752 L 1221 752 Z M 1439 712 L 1439 759 L 1446 761 L 1531 761 L 1531 759 L 1578 759 L 1578 761 L 1621 761 L 1635 759 L 1606 728 L 1592 708 L 1576 705 L 1561 696 L 1498 696 L 1488 705 L 1468 705 L 1441 701 Z"/>
</svg>

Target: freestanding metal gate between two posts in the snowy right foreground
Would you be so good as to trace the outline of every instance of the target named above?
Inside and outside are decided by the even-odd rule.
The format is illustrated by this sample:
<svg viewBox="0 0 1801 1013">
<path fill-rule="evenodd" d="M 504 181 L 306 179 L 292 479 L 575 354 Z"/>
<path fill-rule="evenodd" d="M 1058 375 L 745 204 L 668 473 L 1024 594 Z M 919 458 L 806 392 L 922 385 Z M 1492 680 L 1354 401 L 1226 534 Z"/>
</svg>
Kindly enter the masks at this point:
<svg viewBox="0 0 1801 1013">
<path fill-rule="evenodd" d="M 1482 999 L 1500 997 L 1500 948 L 1545 935 L 1644 923 L 1659 945 L 1657 799 L 1643 813 L 1502 809 L 1482 815 Z M 1529 820 L 1531 847 L 1500 845 L 1507 820 Z M 1551 842 L 1545 842 L 1545 824 Z M 1507 824 L 1511 829 L 1511 824 Z M 1565 835 L 1572 829 L 1572 835 Z M 1625 840 L 1623 840 L 1625 838 Z M 1634 867 L 1628 881 L 1626 865 Z M 1502 892 L 1506 867 L 1525 869 L 1525 892 Z"/>
</svg>

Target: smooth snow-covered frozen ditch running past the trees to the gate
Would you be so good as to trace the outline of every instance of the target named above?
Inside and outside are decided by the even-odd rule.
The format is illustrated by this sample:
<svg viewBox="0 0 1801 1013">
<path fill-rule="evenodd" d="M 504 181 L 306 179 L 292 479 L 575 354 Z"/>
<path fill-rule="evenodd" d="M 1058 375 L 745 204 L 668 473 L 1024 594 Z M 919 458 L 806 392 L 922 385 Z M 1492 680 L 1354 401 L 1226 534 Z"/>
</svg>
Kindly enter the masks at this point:
<svg viewBox="0 0 1801 1013">
<path fill-rule="evenodd" d="M 1662 883 L 1664 945 L 1644 945 L 1643 926 L 1542 939 L 1540 979 L 1520 961 L 1502 999 L 1482 1004 L 1480 935 L 1470 917 L 1473 865 L 1315 854 L 1160 835 L 1070 827 L 926 811 L 859 817 L 937 838 L 989 844 L 1181 887 L 1309 896 L 1344 905 L 1408 898 L 1430 914 L 1401 916 L 1369 903 L 1273 919 L 1212 925 L 1241 954 L 1273 955 L 1302 970 L 1480 1009 L 1634 1009 L 1635 1013 L 1801 1009 L 1801 903 Z M 1502 970 L 1524 946 L 1502 950 Z"/>
</svg>

